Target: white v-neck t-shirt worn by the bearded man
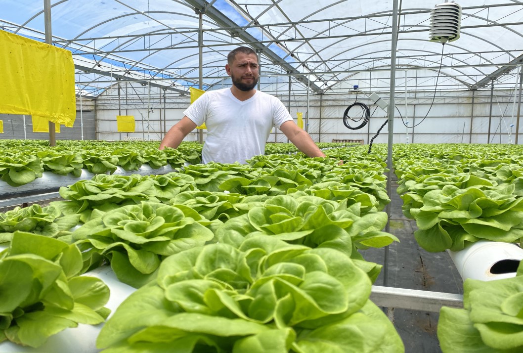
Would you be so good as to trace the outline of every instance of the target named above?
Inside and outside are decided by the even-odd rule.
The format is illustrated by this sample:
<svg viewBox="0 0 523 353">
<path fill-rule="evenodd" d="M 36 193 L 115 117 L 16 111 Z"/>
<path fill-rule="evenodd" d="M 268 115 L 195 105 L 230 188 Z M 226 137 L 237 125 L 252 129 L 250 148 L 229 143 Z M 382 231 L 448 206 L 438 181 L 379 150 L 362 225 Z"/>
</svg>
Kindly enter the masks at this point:
<svg viewBox="0 0 523 353">
<path fill-rule="evenodd" d="M 202 163 L 245 163 L 265 153 L 265 143 L 272 127 L 292 120 L 281 101 L 256 91 L 241 101 L 230 88 L 210 90 L 184 111 L 197 126 L 205 123 L 207 138 Z"/>
</svg>

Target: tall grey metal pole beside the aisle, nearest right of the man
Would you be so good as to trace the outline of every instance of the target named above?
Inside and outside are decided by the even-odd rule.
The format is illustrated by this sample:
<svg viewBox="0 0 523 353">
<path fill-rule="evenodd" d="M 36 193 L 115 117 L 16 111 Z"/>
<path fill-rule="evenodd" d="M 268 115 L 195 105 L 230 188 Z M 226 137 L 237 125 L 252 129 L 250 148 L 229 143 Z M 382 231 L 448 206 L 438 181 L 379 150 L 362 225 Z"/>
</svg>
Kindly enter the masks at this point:
<svg viewBox="0 0 523 353">
<path fill-rule="evenodd" d="M 387 150 L 387 194 L 392 195 L 392 142 L 394 137 L 394 89 L 396 85 L 396 48 L 397 48 L 397 0 L 392 4 L 392 40 L 391 40 L 391 82 L 390 97 L 387 114 L 389 116 L 389 146 Z M 390 231 L 391 204 L 387 205 L 387 214 L 389 219 L 385 227 L 385 232 Z M 389 282 L 389 246 L 385 247 L 385 256 L 383 259 L 383 286 L 387 287 Z"/>
</svg>

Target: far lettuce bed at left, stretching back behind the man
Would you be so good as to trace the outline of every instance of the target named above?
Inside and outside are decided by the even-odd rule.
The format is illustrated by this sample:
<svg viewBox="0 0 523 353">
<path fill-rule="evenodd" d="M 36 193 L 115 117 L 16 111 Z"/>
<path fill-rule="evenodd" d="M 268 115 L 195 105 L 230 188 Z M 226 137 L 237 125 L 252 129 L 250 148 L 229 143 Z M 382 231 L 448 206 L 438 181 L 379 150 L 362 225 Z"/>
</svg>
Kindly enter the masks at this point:
<svg viewBox="0 0 523 353">
<path fill-rule="evenodd" d="M 202 145 L 183 142 L 178 149 L 158 150 L 157 141 L 56 141 L 0 140 L 0 180 L 16 187 L 42 177 L 43 172 L 79 177 L 82 169 L 94 174 L 112 174 L 118 167 L 138 170 L 142 165 L 179 168 L 201 161 Z M 341 143 L 321 143 L 322 148 Z M 266 154 L 295 153 L 288 143 L 269 143 Z"/>
</svg>

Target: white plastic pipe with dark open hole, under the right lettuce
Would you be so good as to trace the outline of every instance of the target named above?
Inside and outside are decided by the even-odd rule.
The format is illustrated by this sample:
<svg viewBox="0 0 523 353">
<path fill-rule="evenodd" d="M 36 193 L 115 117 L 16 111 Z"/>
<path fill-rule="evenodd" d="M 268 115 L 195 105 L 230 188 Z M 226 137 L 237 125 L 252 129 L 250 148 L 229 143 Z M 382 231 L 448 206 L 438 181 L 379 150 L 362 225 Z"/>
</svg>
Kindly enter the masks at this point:
<svg viewBox="0 0 523 353">
<path fill-rule="evenodd" d="M 491 281 L 516 276 L 516 266 L 508 266 L 507 271 L 494 271 L 495 265 L 504 263 L 514 265 L 523 259 L 523 249 L 516 244 L 479 241 L 465 246 L 463 250 L 448 250 L 454 265 L 463 280 L 467 278 Z M 514 271 L 512 271 L 514 269 Z"/>
</svg>

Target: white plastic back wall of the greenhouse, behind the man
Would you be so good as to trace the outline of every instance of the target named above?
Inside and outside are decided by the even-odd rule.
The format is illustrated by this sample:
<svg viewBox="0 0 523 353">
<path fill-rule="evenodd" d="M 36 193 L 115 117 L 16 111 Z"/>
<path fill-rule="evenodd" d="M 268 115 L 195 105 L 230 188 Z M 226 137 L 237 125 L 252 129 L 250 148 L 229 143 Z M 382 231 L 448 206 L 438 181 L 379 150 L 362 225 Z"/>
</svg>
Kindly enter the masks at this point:
<svg viewBox="0 0 523 353">
<path fill-rule="evenodd" d="M 433 100 L 433 93 L 399 92 L 395 97 L 394 143 L 515 143 L 517 104 L 514 104 L 514 92 L 499 90 L 492 101 L 490 90 L 474 93 L 471 91 L 441 92 Z M 385 97 L 384 94 L 380 94 Z M 154 95 L 151 95 L 153 97 Z M 117 97 L 101 96 L 97 99 L 96 129 L 97 139 L 121 140 L 126 136 L 161 140 L 165 131 L 183 117 L 183 111 L 189 106 L 189 97 L 167 95 L 165 102 L 157 93 L 155 98 L 129 98 L 120 101 Z M 286 106 L 288 96 L 278 96 Z M 127 101 L 127 104 L 125 102 Z M 368 144 L 387 120 L 386 111 L 376 108 L 366 95 L 360 94 L 357 101 L 366 104 L 371 112 L 369 123 L 359 130 L 350 130 L 344 126 L 343 115 L 348 106 L 354 104 L 356 95 L 311 95 L 309 97 L 309 119 L 307 130 L 315 142 L 333 140 L 362 140 Z M 307 117 L 306 96 L 293 96 L 290 101 L 290 113 L 297 119 L 297 113 Z M 148 113 L 149 111 L 149 113 Z M 116 116 L 133 115 L 134 133 L 119 133 Z M 407 125 L 405 127 L 405 124 Z M 349 115 L 355 120 L 361 116 L 360 108 L 352 108 Z M 426 118 L 425 118 L 426 116 Z M 471 118 L 473 116 L 473 118 Z M 166 119 L 165 119 L 166 117 Z M 320 123 L 321 122 L 321 123 Z M 149 123 L 149 124 L 148 124 Z M 472 123 L 472 126 L 471 126 Z M 359 121 L 349 120 L 350 126 L 356 127 Z M 412 126 L 414 125 L 414 128 Z M 489 133 L 490 125 L 490 133 Z M 149 127 L 149 128 L 148 128 Z M 164 128 L 165 127 L 165 128 Z M 501 133 L 500 133 L 501 131 Z M 205 134 L 204 134 L 205 135 Z M 195 130 L 186 141 L 198 141 Z M 385 126 L 374 139 L 374 143 L 388 141 L 388 127 Z M 278 129 L 273 129 L 268 142 L 288 142 L 287 137 Z"/>
</svg>

